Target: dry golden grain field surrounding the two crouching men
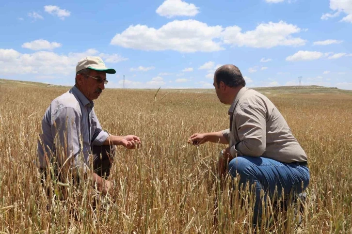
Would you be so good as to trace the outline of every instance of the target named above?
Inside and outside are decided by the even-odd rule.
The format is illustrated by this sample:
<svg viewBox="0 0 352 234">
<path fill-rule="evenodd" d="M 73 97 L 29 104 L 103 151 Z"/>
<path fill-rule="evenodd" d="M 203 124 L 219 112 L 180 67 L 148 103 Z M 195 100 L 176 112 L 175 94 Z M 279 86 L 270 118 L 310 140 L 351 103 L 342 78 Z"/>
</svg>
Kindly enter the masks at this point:
<svg viewBox="0 0 352 234">
<path fill-rule="evenodd" d="M 214 160 L 226 146 L 186 143 L 192 133 L 227 128 L 228 106 L 214 91 L 160 90 L 155 97 L 155 90 L 106 89 L 95 106 L 101 125 L 112 134 L 140 136 L 143 148 L 118 148 L 111 178 L 115 188 L 93 212 L 88 186 L 56 184 L 54 193 L 62 189 L 68 198 L 49 199 L 33 164 L 42 116 L 68 88 L 0 81 L 1 232 L 242 233 L 251 227 L 248 205 L 231 206 L 229 197 L 236 194 L 228 187 L 221 193 L 217 189 Z M 286 118 L 308 155 L 311 172 L 302 226 L 294 228 L 290 207 L 285 225 L 285 216 L 279 217 L 262 232 L 352 233 L 351 92 L 257 90 Z"/>
</svg>

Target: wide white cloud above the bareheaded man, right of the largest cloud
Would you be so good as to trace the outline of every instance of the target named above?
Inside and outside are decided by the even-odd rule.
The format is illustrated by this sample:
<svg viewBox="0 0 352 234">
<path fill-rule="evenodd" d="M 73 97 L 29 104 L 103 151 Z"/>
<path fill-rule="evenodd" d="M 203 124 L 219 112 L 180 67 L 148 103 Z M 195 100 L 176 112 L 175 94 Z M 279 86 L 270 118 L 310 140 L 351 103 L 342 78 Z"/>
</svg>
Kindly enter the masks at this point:
<svg viewBox="0 0 352 234">
<path fill-rule="evenodd" d="M 222 35 L 225 44 L 255 48 L 272 48 L 277 46 L 303 46 L 306 40 L 292 37 L 301 31 L 296 25 L 284 21 L 278 23 L 261 23 L 254 31 L 241 32 L 238 26 L 227 27 Z"/>
</svg>

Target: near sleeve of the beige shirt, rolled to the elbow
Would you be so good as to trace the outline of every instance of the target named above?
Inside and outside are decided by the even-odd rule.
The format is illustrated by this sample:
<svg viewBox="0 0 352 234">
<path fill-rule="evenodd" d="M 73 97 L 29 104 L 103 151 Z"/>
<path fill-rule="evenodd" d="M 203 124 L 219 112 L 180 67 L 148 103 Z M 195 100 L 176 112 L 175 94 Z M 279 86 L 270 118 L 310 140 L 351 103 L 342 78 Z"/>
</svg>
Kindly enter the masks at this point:
<svg viewBox="0 0 352 234">
<path fill-rule="evenodd" d="M 240 141 L 230 149 L 231 154 L 261 156 L 266 146 L 266 111 L 258 105 L 240 108 L 235 116 Z"/>
</svg>

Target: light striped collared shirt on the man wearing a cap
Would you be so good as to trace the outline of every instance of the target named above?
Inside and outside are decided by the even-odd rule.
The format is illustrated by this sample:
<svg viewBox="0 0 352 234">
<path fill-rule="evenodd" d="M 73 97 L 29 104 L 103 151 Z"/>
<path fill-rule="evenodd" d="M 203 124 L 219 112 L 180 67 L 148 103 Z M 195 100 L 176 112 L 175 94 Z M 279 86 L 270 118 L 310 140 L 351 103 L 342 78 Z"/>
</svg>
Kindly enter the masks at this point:
<svg viewBox="0 0 352 234">
<path fill-rule="evenodd" d="M 94 102 L 73 86 L 55 98 L 44 114 L 37 151 L 39 167 L 47 167 L 45 154 L 50 161 L 57 156 L 60 165 L 70 157 L 74 159 L 70 161 L 71 166 L 76 167 L 80 165 L 78 156 L 82 153 L 83 161 L 88 165 L 91 145 L 102 145 L 108 136 L 96 117 Z"/>
</svg>

